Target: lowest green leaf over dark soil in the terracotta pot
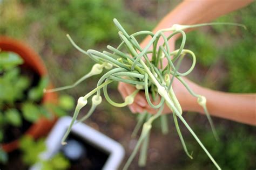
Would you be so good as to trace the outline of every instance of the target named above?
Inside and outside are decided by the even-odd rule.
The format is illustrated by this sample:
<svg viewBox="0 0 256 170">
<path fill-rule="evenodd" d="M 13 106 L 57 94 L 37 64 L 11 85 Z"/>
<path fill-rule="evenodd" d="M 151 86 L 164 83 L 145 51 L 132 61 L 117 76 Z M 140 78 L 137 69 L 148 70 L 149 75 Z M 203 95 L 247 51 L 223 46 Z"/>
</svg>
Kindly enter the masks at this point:
<svg viewBox="0 0 256 170">
<path fill-rule="evenodd" d="M 8 121 L 11 125 L 21 126 L 22 118 L 17 109 L 8 109 L 5 111 L 6 121 Z"/>
</svg>

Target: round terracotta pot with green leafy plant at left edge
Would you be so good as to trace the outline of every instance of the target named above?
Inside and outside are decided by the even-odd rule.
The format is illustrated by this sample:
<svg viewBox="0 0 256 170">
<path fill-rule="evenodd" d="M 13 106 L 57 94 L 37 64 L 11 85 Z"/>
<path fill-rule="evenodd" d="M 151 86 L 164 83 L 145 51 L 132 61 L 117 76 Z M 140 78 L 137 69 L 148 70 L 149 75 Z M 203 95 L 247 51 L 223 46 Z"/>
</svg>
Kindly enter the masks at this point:
<svg viewBox="0 0 256 170">
<path fill-rule="evenodd" d="M 41 104 L 56 103 L 57 95 L 43 94 L 43 88 L 49 84 L 47 72 L 31 48 L 0 37 L 0 50 L 0 147 L 11 152 L 18 147 L 23 134 L 38 138 L 50 131 L 56 116 Z"/>
</svg>

